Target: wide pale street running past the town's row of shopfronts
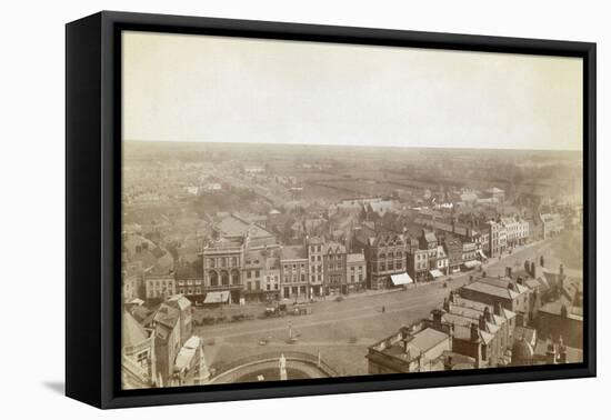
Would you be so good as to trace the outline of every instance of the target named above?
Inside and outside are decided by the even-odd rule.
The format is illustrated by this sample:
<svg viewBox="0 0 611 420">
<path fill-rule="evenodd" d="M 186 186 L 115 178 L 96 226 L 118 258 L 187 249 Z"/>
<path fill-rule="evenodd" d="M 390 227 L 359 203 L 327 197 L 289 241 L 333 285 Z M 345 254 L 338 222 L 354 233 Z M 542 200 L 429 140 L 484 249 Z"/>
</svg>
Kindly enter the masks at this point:
<svg viewBox="0 0 611 420">
<path fill-rule="evenodd" d="M 428 317 L 433 308 L 443 302 L 450 290 L 469 282 L 470 276 L 478 278 L 484 271 L 488 276 L 502 276 L 505 267 L 512 267 L 514 271 L 521 270 L 524 260 L 539 262 L 540 256 L 543 256 L 550 270 L 557 271 L 559 260 L 553 253 L 552 244 L 562 240 L 565 238 L 558 237 L 524 246 L 501 260 L 489 260 L 481 271 L 453 274 L 452 280 L 447 281 L 447 288 L 441 279 L 407 290 L 354 293 L 341 302 L 315 302 L 312 304 L 312 314 L 309 316 L 289 314 L 282 318 L 198 327 L 196 333 L 204 342 L 214 342 L 206 348 L 207 361 L 211 366 L 276 350 L 299 350 L 312 354 L 320 351 L 324 361 L 342 374 L 364 374 L 364 356 L 369 346 L 402 326 Z M 262 312 L 264 307 L 259 304 L 257 308 Z M 296 343 L 286 342 L 289 333 L 297 338 Z M 261 339 L 268 340 L 268 343 L 260 346 Z"/>
</svg>

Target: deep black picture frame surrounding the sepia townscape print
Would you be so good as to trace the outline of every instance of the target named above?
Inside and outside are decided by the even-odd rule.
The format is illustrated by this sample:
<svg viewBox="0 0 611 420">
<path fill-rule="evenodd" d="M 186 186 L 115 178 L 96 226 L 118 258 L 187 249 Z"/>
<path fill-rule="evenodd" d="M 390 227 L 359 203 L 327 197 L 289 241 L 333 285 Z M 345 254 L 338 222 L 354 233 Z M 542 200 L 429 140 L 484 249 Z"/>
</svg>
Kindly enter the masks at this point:
<svg viewBox="0 0 611 420">
<path fill-rule="evenodd" d="M 568 366 L 120 389 L 122 30 L 583 59 L 584 361 Z M 102 11 L 66 27 L 66 393 L 99 408 L 595 376 L 595 43 Z"/>
</svg>

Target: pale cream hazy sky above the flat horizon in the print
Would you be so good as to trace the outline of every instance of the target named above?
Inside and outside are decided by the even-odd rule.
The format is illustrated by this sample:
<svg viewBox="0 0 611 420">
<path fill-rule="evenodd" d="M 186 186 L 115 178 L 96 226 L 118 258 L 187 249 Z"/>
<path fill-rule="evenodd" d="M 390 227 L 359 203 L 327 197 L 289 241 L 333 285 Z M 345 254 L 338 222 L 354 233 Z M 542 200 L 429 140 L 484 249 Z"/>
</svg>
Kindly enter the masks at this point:
<svg viewBox="0 0 611 420">
<path fill-rule="evenodd" d="M 581 150 L 582 62 L 123 32 L 123 139 Z"/>
</svg>

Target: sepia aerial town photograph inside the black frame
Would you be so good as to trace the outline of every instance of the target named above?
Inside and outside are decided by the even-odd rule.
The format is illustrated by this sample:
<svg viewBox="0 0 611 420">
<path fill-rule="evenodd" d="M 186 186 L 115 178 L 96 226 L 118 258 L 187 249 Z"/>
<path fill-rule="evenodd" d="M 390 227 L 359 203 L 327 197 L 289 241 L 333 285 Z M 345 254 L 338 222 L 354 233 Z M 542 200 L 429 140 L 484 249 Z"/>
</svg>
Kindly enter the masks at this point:
<svg viewBox="0 0 611 420">
<path fill-rule="evenodd" d="M 583 361 L 581 60 L 124 32 L 122 73 L 123 389 Z"/>
</svg>

